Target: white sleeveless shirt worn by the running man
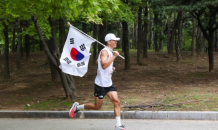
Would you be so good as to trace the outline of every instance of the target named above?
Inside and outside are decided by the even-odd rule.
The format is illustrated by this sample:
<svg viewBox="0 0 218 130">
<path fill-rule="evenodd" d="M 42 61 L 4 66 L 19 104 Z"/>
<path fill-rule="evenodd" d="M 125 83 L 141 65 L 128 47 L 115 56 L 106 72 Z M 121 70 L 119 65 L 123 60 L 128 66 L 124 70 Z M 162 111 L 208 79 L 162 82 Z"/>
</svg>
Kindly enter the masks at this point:
<svg viewBox="0 0 218 130">
<path fill-rule="evenodd" d="M 106 50 L 108 52 L 109 56 L 107 60 L 109 60 L 113 56 L 113 53 L 106 47 L 102 50 Z M 112 62 L 110 66 L 108 66 L 106 69 L 103 69 L 101 65 L 101 59 L 100 59 L 102 50 L 100 51 L 99 56 L 98 56 L 98 69 L 97 69 L 97 76 L 95 78 L 95 84 L 101 87 L 110 87 L 112 85 L 111 77 L 113 73 L 113 63 L 114 62 Z"/>
</svg>

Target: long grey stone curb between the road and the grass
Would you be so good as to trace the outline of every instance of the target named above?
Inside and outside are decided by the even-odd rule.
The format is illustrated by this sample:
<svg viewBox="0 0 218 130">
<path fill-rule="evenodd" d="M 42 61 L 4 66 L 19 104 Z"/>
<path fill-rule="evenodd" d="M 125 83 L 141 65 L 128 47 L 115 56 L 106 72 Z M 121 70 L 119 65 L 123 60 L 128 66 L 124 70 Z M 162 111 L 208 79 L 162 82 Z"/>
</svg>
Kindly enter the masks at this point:
<svg viewBox="0 0 218 130">
<path fill-rule="evenodd" d="M 69 118 L 69 111 L 0 111 L 0 118 Z M 80 111 L 77 119 L 114 119 L 113 111 Z M 125 111 L 122 119 L 218 120 L 213 111 Z"/>
</svg>

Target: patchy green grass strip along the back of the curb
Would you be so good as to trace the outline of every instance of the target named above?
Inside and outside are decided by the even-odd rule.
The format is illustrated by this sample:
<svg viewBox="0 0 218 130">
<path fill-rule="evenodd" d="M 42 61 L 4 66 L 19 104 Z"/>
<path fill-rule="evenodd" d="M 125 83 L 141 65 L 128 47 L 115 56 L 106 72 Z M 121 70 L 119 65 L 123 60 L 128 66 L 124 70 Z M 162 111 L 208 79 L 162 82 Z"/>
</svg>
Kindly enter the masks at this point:
<svg viewBox="0 0 218 130">
<path fill-rule="evenodd" d="M 161 87 L 156 87 L 161 88 Z M 188 87 L 187 87 L 188 88 Z M 216 88 L 213 86 L 212 88 Z M 161 100 L 158 98 L 153 99 L 153 102 L 161 102 L 166 105 L 164 108 L 153 107 L 152 109 L 145 110 L 163 110 L 163 111 L 218 111 L 218 97 L 216 92 L 210 92 L 205 94 L 204 92 L 208 89 L 208 86 L 205 88 L 188 88 L 183 91 L 177 92 L 176 90 L 170 91 L 165 97 Z M 211 86 L 210 86 L 211 89 Z M 159 90 L 154 90 L 153 94 L 159 95 L 161 92 Z M 13 97 L 13 96 L 12 96 Z M 25 98 L 25 100 L 30 101 L 30 98 Z M 94 103 L 94 100 L 87 100 L 84 102 L 82 99 L 77 99 L 77 101 L 83 103 L 91 102 Z M 136 105 L 142 103 L 142 96 L 139 95 L 126 95 L 125 98 L 120 98 L 121 101 L 121 110 L 125 110 L 122 106 Z M 144 101 L 144 99 L 143 99 Z M 149 101 L 148 101 L 149 102 Z M 169 104 L 179 104 L 180 106 L 168 107 Z M 6 104 L 4 104 L 6 105 Z M 72 102 L 66 101 L 65 98 L 57 97 L 44 102 L 39 102 L 30 106 L 25 105 L 24 110 L 69 110 L 72 106 Z M 111 103 L 110 99 L 105 96 L 104 102 L 102 105 L 101 111 L 113 111 L 114 106 Z M 130 110 L 140 110 L 130 109 Z"/>
</svg>

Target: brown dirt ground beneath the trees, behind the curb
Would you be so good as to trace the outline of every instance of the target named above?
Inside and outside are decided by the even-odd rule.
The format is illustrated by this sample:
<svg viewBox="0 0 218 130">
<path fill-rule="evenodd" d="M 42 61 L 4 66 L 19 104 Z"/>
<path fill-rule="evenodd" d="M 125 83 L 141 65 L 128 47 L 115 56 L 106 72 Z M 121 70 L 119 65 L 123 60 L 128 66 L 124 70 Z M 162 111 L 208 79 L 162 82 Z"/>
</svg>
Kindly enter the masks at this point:
<svg viewBox="0 0 218 130">
<path fill-rule="evenodd" d="M 114 62 L 113 84 L 122 110 L 218 110 L 216 52 L 212 73 L 208 72 L 206 53 L 191 57 L 190 52 L 183 52 L 181 61 L 177 62 L 175 54 L 149 51 L 143 65 L 136 64 L 136 51 L 130 53 L 130 70 L 124 70 L 123 59 Z M 9 57 L 11 78 L 4 80 L 4 56 L 0 55 L 0 110 L 69 110 L 74 101 L 93 103 L 97 64 L 92 59 L 88 73 L 82 78 L 74 77 L 79 97 L 69 101 L 61 82 L 51 82 L 44 52 L 31 53 L 29 61 L 21 58 L 20 70 L 16 68 L 16 54 Z M 133 107 L 124 108 L 130 105 Z M 101 110 L 113 110 L 107 97 Z"/>
</svg>

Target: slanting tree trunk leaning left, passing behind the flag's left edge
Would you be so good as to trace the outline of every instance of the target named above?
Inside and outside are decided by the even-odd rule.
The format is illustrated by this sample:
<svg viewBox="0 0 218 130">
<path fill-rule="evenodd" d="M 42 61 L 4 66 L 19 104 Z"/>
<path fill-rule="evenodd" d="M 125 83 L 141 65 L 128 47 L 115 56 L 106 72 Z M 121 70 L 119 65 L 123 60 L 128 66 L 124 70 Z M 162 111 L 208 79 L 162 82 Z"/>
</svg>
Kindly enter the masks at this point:
<svg viewBox="0 0 218 130">
<path fill-rule="evenodd" d="M 59 59 L 55 60 L 55 58 L 52 56 L 52 54 L 50 53 L 48 46 L 45 42 L 45 39 L 43 38 L 43 34 L 41 32 L 41 29 L 39 27 L 38 21 L 36 18 L 32 17 L 35 28 L 37 30 L 37 33 L 39 35 L 39 38 L 42 42 L 42 45 L 44 47 L 44 51 L 47 54 L 48 58 L 50 59 L 50 61 L 55 65 L 56 69 L 58 70 L 60 77 L 61 77 L 61 83 L 63 85 L 63 88 L 65 90 L 65 94 L 66 97 L 68 99 L 70 99 L 71 101 L 76 97 L 75 93 L 76 93 L 76 86 L 75 83 L 73 81 L 73 78 L 65 73 L 62 72 L 62 70 L 58 67 L 60 65 L 59 63 Z M 58 64 L 58 63 L 59 64 Z"/>
</svg>

